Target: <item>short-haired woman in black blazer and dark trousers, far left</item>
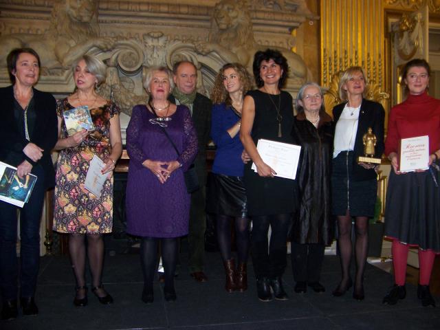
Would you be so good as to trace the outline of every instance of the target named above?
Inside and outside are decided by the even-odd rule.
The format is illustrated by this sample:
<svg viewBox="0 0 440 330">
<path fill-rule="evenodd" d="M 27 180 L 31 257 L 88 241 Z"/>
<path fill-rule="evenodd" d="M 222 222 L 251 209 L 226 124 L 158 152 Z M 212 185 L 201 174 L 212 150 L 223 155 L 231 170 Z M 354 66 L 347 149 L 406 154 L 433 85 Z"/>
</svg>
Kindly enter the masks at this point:
<svg viewBox="0 0 440 330">
<path fill-rule="evenodd" d="M 0 201 L 0 292 L 2 320 L 17 318 L 17 294 L 23 315 L 36 315 L 34 294 L 39 272 L 40 219 L 47 188 L 55 184 L 50 153 L 57 137 L 56 102 L 49 93 L 34 89 L 40 58 L 30 48 L 8 55 L 12 86 L 0 89 L 0 161 L 17 167 L 20 178 L 38 177 L 32 195 L 20 212 L 20 275 L 17 265 L 17 206 Z"/>
</svg>

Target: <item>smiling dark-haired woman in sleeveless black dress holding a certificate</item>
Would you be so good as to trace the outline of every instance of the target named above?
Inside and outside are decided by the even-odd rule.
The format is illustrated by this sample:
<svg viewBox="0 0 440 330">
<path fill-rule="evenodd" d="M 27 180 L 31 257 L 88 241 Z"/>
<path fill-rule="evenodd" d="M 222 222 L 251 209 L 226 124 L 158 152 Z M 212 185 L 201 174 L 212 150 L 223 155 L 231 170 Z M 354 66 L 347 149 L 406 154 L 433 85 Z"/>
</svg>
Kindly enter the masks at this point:
<svg viewBox="0 0 440 330">
<path fill-rule="evenodd" d="M 252 261 L 259 299 L 272 300 L 272 288 L 276 299 L 286 300 L 282 276 L 287 263 L 287 231 L 298 206 L 298 187 L 296 180 L 276 177 L 274 169 L 263 162 L 256 145 L 260 139 L 293 143 L 292 96 L 281 91 L 288 74 L 287 60 L 280 52 L 267 49 L 256 52 L 253 69 L 259 89 L 245 96 L 240 130 L 245 151 L 256 165 L 254 171 L 249 162 L 244 175 L 252 217 Z"/>
</svg>

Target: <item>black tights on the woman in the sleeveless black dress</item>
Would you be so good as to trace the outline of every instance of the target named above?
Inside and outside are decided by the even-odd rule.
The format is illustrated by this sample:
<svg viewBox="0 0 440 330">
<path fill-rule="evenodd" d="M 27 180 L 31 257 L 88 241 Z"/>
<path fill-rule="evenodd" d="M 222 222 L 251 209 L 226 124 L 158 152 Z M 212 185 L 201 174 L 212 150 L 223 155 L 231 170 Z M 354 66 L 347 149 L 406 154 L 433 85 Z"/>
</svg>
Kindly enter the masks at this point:
<svg viewBox="0 0 440 330">
<path fill-rule="evenodd" d="M 287 263 L 287 231 L 291 221 L 290 213 L 252 217 L 251 249 L 256 278 L 283 275 Z M 272 229 L 270 244 L 267 242 L 269 226 Z"/>
</svg>

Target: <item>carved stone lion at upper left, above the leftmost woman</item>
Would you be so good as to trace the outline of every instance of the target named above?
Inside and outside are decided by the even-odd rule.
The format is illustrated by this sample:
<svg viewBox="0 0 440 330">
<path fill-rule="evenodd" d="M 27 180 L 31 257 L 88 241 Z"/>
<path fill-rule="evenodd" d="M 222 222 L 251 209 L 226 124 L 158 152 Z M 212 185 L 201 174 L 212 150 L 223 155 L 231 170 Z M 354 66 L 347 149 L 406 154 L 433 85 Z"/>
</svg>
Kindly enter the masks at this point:
<svg viewBox="0 0 440 330">
<path fill-rule="evenodd" d="M 98 1 L 62 0 L 55 3 L 49 30 L 43 35 L 10 34 L 0 39 L 0 61 L 16 47 L 32 47 L 41 57 L 42 74 L 67 69 L 92 47 L 106 51 L 114 41 L 99 38 Z M 2 62 L 2 63 L 3 63 Z"/>
</svg>

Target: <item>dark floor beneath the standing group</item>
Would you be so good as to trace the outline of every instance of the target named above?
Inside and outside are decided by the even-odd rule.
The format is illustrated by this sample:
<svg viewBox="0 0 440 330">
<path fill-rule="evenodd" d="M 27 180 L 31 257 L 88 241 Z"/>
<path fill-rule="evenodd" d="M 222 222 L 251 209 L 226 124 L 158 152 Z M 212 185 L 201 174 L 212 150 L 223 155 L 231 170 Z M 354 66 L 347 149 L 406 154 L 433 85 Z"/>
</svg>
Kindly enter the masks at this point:
<svg viewBox="0 0 440 330">
<path fill-rule="evenodd" d="M 20 315 L 17 320 L 0 321 L 0 329 L 440 329 L 438 297 L 437 308 L 423 308 L 416 296 L 417 288 L 407 285 L 405 300 L 395 306 L 382 305 L 382 297 L 393 278 L 371 265 L 366 269 L 366 298 L 362 302 L 353 300 L 351 292 L 341 298 L 331 296 L 340 271 L 338 258 L 326 256 L 322 269 L 325 294 L 293 293 L 289 262 L 284 281 L 290 299 L 262 303 L 256 297 L 252 265 L 248 291 L 228 294 L 223 289 L 223 267 L 218 253 L 206 254 L 209 281 L 203 284 L 190 278 L 185 256 L 181 259 L 175 303 L 165 302 L 159 283 L 155 283 L 155 302 L 142 303 L 139 256 L 108 253 L 103 282 L 115 303 L 100 305 L 89 292 L 89 305 L 78 308 L 72 304 L 74 283 L 69 259 L 45 256 L 41 259 L 36 294 L 39 316 Z"/>
</svg>

